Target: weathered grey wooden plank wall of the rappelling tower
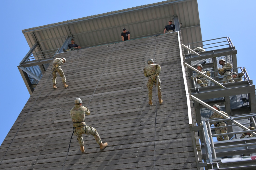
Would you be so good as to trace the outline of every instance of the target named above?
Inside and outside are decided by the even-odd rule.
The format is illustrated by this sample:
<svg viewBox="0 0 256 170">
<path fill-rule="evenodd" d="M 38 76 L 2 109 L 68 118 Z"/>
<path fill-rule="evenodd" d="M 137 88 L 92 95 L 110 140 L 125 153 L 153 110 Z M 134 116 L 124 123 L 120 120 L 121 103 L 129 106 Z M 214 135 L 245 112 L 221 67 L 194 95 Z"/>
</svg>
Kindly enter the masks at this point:
<svg viewBox="0 0 256 170">
<path fill-rule="evenodd" d="M 197 169 L 178 36 L 174 32 L 57 54 L 67 59 L 61 68 L 69 87 L 64 89 L 58 75 L 57 89 L 52 88 L 49 66 L 1 145 L 0 169 L 62 169 L 75 98 L 89 104 L 86 124 L 108 147 L 101 151 L 93 136 L 83 135 L 82 154 L 73 135 L 63 169 Z M 154 105 L 148 105 L 143 68 L 149 58 L 161 66 L 162 105 L 155 87 Z"/>
</svg>

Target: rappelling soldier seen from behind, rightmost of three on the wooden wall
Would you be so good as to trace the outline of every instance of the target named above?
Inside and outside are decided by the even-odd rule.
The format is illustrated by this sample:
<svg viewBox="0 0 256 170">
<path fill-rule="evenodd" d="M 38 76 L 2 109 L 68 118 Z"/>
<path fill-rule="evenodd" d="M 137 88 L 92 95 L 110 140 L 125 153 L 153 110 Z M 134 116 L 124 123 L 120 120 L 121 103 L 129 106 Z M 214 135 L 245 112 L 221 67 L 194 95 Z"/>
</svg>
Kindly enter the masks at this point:
<svg viewBox="0 0 256 170">
<path fill-rule="evenodd" d="M 148 89 L 148 99 L 149 102 L 148 104 L 150 106 L 153 105 L 152 103 L 152 89 L 153 89 L 153 85 L 155 83 L 155 86 L 157 88 L 157 96 L 159 98 L 159 104 L 163 103 L 162 98 L 162 92 L 161 92 L 161 81 L 159 78 L 159 74 L 161 71 L 161 67 L 159 66 L 159 64 L 154 64 L 153 59 L 148 59 L 147 60 L 147 66 L 144 67 L 144 76 L 147 77 L 148 81 L 147 81 L 147 89 Z"/>
</svg>

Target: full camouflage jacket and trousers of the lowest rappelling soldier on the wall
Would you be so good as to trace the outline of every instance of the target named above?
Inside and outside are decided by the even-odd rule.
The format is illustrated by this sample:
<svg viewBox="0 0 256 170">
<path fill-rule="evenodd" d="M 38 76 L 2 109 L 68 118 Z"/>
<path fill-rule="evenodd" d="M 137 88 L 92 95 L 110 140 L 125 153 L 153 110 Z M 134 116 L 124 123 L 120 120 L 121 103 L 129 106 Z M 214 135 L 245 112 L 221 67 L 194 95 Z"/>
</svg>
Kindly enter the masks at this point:
<svg viewBox="0 0 256 170">
<path fill-rule="evenodd" d="M 86 115 L 90 115 L 89 109 L 84 106 L 76 105 L 70 110 L 70 116 L 73 122 L 74 135 L 77 136 L 79 146 L 83 146 L 83 134 L 93 135 L 98 144 L 101 143 L 100 136 L 97 130 L 91 126 L 86 125 L 84 118 Z"/>
</svg>

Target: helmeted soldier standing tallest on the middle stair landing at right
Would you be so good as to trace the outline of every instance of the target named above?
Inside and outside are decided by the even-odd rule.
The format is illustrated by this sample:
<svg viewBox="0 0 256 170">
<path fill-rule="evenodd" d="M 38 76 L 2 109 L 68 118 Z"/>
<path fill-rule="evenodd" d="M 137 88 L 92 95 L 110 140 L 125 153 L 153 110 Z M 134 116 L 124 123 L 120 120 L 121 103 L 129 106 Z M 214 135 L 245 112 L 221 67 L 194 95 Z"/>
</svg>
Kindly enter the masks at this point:
<svg viewBox="0 0 256 170">
<path fill-rule="evenodd" d="M 222 66 L 222 68 L 218 69 L 218 71 L 220 75 L 224 75 L 223 80 L 229 80 L 230 83 L 233 83 L 234 80 L 232 79 L 232 73 L 230 72 L 230 70 L 227 70 L 233 68 L 232 64 L 228 62 L 226 63 L 226 61 L 223 59 L 219 60 L 219 64 Z M 228 81 L 223 81 L 223 83 L 228 83 Z"/>
</svg>

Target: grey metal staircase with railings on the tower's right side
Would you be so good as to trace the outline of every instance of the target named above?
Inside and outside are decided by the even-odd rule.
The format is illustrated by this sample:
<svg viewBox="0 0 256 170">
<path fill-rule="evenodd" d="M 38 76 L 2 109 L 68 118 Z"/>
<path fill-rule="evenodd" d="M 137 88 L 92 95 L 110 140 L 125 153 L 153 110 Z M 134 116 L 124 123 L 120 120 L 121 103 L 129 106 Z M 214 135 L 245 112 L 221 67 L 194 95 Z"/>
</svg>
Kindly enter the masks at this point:
<svg viewBox="0 0 256 170">
<path fill-rule="evenodd" d="M 217 41 L 217 42 L 216 42 Z M 213 43 L 212 43 L 213 42 Z M 190 97 L 193 100 L 194 111 L 198 126 L 191 130 L 198 132 L 202 163 L 198 167 L 204 169 L 254 169 L 256 168 L 256 130 L 250 130 L 248 126 L 254 126 L 256 118 L 255 85 L 245 68 L 237 67 L 237 51 L 230 38 L 222 37 L 214 40 L 195 42 L 182 46 L 187 50 L 184 65 L 188 68 L 190 81 Z M 206 51 L 197 53 L 193 49 L 202 47 Z M 219 59 L 225 59 L 232 63 L 232 71 L 243 73 L 243 81 L 223 84 L 223 76 L 218 74 Z M 208 86 L 200 87 L 196 83 L 195 74 L 202 74 L 196 69 L 201 64 L 204 71 L 210 71 L 211 76 L 204 74 L 208 79 Z M 239 71 L 238 71 L 239 70 Z M 218 104 L 221 111 L 229 116 L 224 116 L 227 121 L 230 140 L 217 141 L 214 126 L 209 120 L 211 113 L 217 110 L 211 106 Z M 219 113 L 221 114 L 221 112 Z M 241 134 L 251 133 L 254 136 L 240 139 Z"/>
</svg>

